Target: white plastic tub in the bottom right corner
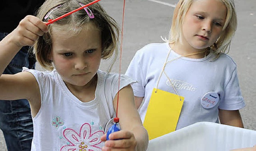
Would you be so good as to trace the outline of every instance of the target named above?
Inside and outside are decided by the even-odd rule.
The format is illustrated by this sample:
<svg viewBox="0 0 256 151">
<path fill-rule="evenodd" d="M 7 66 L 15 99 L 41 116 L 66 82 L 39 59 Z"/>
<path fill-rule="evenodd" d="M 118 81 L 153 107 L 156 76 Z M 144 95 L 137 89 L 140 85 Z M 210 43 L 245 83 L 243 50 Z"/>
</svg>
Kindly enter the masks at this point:
<svg viewBox="0 0 256 151">
<path fill-rule="evenodd" d="M 256 131 L 198 122 L 149 141 L 148 151 L 230 151 L 256 145 Z"/>
</svg>

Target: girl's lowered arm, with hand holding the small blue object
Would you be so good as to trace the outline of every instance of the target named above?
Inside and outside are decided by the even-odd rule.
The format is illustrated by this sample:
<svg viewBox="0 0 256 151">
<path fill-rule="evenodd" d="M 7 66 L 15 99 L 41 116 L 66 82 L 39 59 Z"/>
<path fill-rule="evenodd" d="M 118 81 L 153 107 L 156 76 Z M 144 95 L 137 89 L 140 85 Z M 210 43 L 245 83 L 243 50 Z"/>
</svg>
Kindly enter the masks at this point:
<svg viewBox="0 0 256 151">
<path fill-rule="evenodd" d="M 117 95 L 114 98 L 116 109 Z M 134 104 L 134 94 L 130 85 L 119 91 L 118 117 L 121 131 L 112 133 L 106 141 L 106 135 L 101 139 L 106 141 L 103 150 L 124 149 L 146 151 L 148 147 L 148 133 L 142 125 L 140 115 Z M 119 139 L 119 140 L 114 140 Z"/>
</svg>

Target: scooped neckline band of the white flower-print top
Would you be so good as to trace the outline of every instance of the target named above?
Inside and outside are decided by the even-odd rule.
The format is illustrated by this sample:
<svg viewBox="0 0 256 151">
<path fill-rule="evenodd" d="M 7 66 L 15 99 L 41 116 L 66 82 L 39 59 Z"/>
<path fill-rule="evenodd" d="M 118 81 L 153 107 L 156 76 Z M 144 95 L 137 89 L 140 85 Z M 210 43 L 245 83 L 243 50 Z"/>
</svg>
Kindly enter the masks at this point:
<svg viewBox="0 0 256 151">
<path fill-rule="evenodd" d="M 80 107 L 86 107 L 86 108 L 91 108 L 91 107 L 95 107 L 96 105 L 98 105 L 99 100 L 97 99 L 97 92 L 99 91 L 99 87 L 100 87 L 100 83 L 102 83 L 102 75 L 101 73 L 98 71 L 97 72 L 97 85 L 96 85 L 96 90 L 95 90 L 95 98 L 89 102 L 82 102 L 80 101 L 73 93 L 71 93 L 71 91 L 68 89 L 68 87 L 66 86 L 65 82 L 63 81 L 63 79 L 61 78 L 60 74 L 58 74 L 58 72 L 56 72 L 58 75 L 58 81 L 60 83 L 60 87 L 62 88 L 62 90 L 64 91 L 64 93 L 66 94 L 66 97 L 70 98 L 70 100 L 74 103 L 76 103 L 77 105 L 79 105 Z"/>
</svg>

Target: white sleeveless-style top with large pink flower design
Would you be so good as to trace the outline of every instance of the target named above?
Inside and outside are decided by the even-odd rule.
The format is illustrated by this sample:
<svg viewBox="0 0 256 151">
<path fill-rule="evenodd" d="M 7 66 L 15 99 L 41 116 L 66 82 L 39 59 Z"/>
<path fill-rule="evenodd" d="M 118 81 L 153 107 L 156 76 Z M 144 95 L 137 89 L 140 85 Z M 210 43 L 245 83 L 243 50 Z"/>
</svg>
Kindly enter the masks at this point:
<svg viewBox="0 0 256 151">
<path fill-rule="evenodd" d="M 113 99 L 118 92 L 118 74 L 98 70 L 95 99 L 84 103 L 69 91 L 56 70 L 23 71 L 36 77 L 42 100 L 33 118 L 32 151 L 100 151 L 104 128 L 116 116 Z M 120 79 L 120 89 L 134 82 L 124 75 Z"/>
</svg>

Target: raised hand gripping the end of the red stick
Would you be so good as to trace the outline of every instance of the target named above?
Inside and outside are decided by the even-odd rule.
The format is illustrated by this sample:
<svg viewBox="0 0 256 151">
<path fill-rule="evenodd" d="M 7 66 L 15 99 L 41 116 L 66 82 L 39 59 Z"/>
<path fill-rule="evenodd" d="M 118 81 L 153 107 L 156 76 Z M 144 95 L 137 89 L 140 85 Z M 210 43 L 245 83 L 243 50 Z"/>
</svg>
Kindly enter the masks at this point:
<svg viewBox="0 0 256 151">
<path fill-rule="evenodd" d="M 39 36 L 42 36 L 45 32 L 48 32 L 45 23 L 35 16 L 28 15 L 9 34 L 9 38 L 18 47 L 32 46 Z"/>
</svg>

